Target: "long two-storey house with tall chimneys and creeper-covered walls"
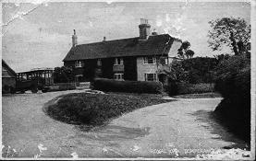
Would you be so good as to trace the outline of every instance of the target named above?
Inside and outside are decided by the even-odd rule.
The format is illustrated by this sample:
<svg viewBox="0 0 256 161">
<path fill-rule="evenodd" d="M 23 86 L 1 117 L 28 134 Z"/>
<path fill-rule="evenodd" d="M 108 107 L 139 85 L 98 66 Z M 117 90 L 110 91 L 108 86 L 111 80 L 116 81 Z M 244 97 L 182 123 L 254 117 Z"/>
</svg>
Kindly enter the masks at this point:
<svg viewBox="0 0 256 161">
<path fill-rule="evenodd" d="M 132 81 L 167 83 L 166 71 L 177 58 L 182 41 L 169 34 L 151 34 L 147 19 L 140 19 L 140 36 L 121 40 L 78 44 L 74 29 L 72 47 L 63 60 L 75 70 L 76 80 L 91 81 L 95 77 Z"/>
</svg>

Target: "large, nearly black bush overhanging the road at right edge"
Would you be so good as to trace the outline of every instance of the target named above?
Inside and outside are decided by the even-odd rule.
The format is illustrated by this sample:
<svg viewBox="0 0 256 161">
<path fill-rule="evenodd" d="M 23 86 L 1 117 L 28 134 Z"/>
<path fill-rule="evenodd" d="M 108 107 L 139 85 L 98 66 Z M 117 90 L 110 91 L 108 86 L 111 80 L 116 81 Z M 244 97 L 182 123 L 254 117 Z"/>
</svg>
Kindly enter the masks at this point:
<svg viewBox="0 0 256 161">
<path fill-rule="evenodd" d="M 214 88 L 224 99 L 214 112 L 250 141 L 250 59 L 232 56 L 218 65 L 216 74 Z"/>
</svg>

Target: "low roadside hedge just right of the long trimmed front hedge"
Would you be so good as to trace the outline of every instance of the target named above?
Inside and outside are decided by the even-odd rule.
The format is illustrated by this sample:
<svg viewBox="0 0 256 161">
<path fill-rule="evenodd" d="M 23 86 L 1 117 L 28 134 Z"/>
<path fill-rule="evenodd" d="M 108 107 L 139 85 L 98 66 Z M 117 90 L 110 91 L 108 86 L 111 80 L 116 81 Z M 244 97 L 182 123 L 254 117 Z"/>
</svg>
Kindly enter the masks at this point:
<svg viewBox="0 0 256 161">
<path fill-rule="evenodd" d="M 167 86 L 169 96 L 213 92 L 213 84 L 171 83 Z"/>
</svg>

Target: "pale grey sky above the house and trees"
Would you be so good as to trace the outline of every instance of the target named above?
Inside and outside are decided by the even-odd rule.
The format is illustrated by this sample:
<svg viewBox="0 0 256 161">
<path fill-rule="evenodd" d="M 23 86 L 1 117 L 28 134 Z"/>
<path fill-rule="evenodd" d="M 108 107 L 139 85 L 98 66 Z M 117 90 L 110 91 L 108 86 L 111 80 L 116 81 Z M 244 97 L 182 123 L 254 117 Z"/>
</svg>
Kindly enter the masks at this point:
<svg viewBox="0 0 256 161">
<path fill-rule="evenodd" d="M 250 23 L 247 2 L 49 2 L 2 4 L 2 59 L 16 72 L 62 66 L 76 29 L 78 43 L 139 36 L 140 18 L 151 29 L 189 40 L 194 56 L 213 52 L 208 47 L 209 21 L 242 17 Z"/>
</svg>

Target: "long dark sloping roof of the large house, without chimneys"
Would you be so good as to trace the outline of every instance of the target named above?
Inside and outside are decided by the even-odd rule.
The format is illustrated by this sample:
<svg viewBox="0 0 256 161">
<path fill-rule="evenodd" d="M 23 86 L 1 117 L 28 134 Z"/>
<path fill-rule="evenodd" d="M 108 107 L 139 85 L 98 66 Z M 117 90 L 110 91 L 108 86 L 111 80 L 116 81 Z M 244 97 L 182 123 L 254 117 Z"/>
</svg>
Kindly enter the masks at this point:
<svg viewBox="0 0 256 161">
<path fill-rule="evenodd" d="M 148 40 L 139 40 L 139 37 L 136 37 L 81 44 L 72 47 L 63 61 L 126 56 L 167 55 L 174 40 L 181 41 L 168 34 L 162 34 L 150 36 Z"/>
</svg>

